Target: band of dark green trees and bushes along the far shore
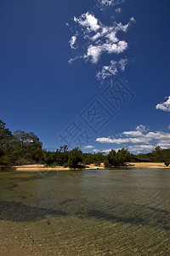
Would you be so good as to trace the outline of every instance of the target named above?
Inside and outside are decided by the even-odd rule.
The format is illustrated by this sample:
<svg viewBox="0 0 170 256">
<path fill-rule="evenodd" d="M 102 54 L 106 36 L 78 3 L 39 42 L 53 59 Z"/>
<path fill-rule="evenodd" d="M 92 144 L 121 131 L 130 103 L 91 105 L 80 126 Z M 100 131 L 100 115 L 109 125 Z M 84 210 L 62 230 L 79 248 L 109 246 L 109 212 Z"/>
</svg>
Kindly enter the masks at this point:
<svg viewBox="0 0 170 256">
<path fill-rule="evenodd" d="M 127 149 L 116 151 L 111 149 L 109 154 L 82 154 L 79 148 L 61 146 L 50 152 L 42 148 L 42 143 L 33 132 L 14 131 L 12 133 L 0 120 L 0 170 L 12 169 L 17 165 L 44 164 L 45 166 L 69 166 L 82 168 L 84 165 L 105 163 L 107 167 L 125 166 L 127 162 L 152 161 L 170 164 L 170 149 L 156 147 L 149 154 L 133 155 Z"/>
</svg>

